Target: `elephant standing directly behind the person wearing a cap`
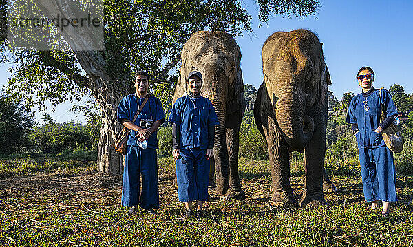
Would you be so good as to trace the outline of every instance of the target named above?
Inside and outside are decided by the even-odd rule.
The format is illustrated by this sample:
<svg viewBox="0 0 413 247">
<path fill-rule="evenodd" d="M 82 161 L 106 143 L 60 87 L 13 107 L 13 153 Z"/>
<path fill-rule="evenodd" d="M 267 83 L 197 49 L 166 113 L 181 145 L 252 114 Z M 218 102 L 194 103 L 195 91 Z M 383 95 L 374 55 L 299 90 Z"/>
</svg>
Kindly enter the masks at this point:
<svg viewBox="0 0 413 247">
<path fill-rule="evenodd" d="M 173 103 L 186 94 L 189 72 L 201 72 L 201 95 L 211 100 L 220 122 L 215 127 L 209 184 L 215 186 L 216 173 L 215 193 L 226 199 L 243 200 L 245 193 L 238 174 L 238 151 L 246 103 L 240 61 L 240 47 L 230 34 L 209 31 L 192 34 L 182 49 L 182 65 Z"/>
</svg>

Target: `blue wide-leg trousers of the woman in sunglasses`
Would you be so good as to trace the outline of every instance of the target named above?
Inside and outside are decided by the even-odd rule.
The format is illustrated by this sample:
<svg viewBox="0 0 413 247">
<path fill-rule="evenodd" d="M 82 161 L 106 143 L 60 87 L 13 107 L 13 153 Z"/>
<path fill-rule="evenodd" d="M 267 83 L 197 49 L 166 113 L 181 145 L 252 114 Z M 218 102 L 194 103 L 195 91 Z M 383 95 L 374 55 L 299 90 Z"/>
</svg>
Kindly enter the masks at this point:
<svg viewBox="0 0 413 247">
<path fill-rule="evenodd" d="M 359 148 L 361 179 L 366 202 L 396 202 L 396 173 L 388 147 Z"/>
</svg>

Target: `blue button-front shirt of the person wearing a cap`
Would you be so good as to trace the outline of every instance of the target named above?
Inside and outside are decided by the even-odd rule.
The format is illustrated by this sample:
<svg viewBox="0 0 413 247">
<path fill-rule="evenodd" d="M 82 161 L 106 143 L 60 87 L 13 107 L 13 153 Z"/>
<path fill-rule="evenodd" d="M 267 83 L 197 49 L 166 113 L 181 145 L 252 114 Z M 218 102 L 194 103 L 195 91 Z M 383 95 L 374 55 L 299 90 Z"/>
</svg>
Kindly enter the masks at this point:
<svg viewBox="0 0 413 247">
<path fill-rule="evenodd" d="M 173 104 L 169 122 L 179 127 L 180 149 L 207 149 L 208 127 L 219 124 L 209 98 L 191 98 L 188 95 L 178 98 Z"/>
</svg>

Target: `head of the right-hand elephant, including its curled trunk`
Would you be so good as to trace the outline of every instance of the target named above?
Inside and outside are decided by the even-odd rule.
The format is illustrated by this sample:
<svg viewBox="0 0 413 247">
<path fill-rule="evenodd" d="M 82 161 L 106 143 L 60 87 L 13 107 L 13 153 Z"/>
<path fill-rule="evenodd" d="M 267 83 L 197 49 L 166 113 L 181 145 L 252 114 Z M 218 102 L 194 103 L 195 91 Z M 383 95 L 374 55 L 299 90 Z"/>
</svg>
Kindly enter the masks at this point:
<svg viewBox="0 0 413 247">
<path fill-rule="evenodd" d="M 301 150 L 314 132 L 310 116 L 316 103 L 327 103 L 330 75 L 322 43 L 313 32 L 276 32 L 262 47 L 268 107 L 282 136 L 292 149 Z"/>
</svg>

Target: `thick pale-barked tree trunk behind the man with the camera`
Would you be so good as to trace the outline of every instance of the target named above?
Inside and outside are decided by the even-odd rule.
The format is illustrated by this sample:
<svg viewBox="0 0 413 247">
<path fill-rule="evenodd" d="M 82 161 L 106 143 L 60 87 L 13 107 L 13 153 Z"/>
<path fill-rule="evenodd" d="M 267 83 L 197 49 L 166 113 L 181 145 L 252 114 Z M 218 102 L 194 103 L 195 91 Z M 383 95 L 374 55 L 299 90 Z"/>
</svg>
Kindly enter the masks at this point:
<svg viewBox="0 0 413 247">
<path fill-rule="evenodd" d="M 66 1 L 34 0 L 34 2 L 49 19 L 56 17 L 56 14 L 60 14 L 61 17 L 76 16 Z M 61 34 L 90 78 L 87 87 L 96 98 L 103 114 L 98 144 L 97 171 L 103 174 L 118 175 L 123 171 L 123 158 L 114 150 L 114 143 L 122 125 L 117 121 L 116 110 L 123 96 L 129 94 L 129 87 L 125 83 L 127 76 L 114 80 L 109 75 L 103 57 L 104 52 L 93 50 L 94 37 L 92 35 L 77 32 L 70 25 Z"/>
</svg>

